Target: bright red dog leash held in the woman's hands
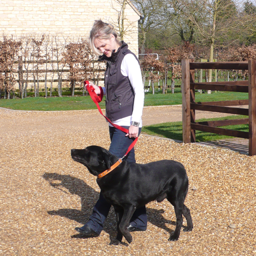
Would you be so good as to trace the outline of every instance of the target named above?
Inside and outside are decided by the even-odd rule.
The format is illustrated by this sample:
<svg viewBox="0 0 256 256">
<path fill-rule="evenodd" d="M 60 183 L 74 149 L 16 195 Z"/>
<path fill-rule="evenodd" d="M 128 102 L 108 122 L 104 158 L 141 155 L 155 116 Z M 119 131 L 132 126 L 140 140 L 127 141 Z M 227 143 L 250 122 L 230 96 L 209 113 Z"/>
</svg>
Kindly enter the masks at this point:
<svg viewBox="0 0 256 256">
<path fill-rule="evenodd" d="M 88 82 L 87 80 L 84 81 L 84 86 L 86 86 L 86 88 L 87 88 L 87 90 L 88 90 L 88 93 L 90 94 L 90 96 L 91 96 L 93 102 L 94 102 L 94 103 L 96 104 L 96 106 L 98 107 L 98 111 L 102 114 L 102 116 L 104 116 L 103 113 L 102 113 L 102 111 L 101 111 L 101 108 L 100 108 L 100 106 L 99 106 L 99 104 L 98 104 L 99 102 L 102 101 L 103 89 L 100 87 L 100 91 L 101 91 L 101 92 L 100 92 L 100 97 L 98 97 L 98 95 L 94 92 L 95 89 L 93 88 L 93 86 L 90 86 L 90 85 L 89 85 L 89 82 Z M 110 124 L 112 124 L 112 126 L 114 126 L 115 128 L 117 128 L 117 129 L 119 129 L 119 130 L 125 132 L 126 134 L 129 132 L 129 130 L 127 130 L 126 128 L 124 128 L 124 127 L 122 127 L 122 126 L 118 126 L 118 125 L 116 125 L 116 124 L 113 124 L 112 121 L 110 121 L 110 119 L 107 118 L 107 116 L 104 116 L 104 117 L 105 117 L 106 120 L 107 120 Z M 128 148 L 126 154 L 125 154 L 121 159 L 123 159 L 123 158 L 125 158 L 125 157 L 127 156 L 127 154 L 130 152 L 130 150 L 135 146 L 137 140 L 138 140 L 138 137 L 135 138 L 135 140 L 133 141 L 132 144 L 130 144 L 130 147 Z"/>
</svg>

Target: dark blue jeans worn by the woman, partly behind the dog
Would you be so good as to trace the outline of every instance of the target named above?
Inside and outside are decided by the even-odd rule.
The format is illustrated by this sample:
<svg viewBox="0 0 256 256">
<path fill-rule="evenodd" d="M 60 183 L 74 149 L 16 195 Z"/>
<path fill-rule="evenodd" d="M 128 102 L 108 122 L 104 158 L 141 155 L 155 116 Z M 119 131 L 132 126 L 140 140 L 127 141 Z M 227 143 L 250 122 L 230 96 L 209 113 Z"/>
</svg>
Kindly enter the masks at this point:
<svg viewBox="0 0 256 256">
<path fill-rule="evenodd" d="M 129 126 L 123 126 L 126 129 L 129 129 Z M 139 132 L 141 131 L 141 128 Z M 116 129 L 115 127 L 109 126 L 109 134 L 110 134 L 110 148 L 109 151 L 111 154 L 116 155 L 119 158 L 122 158 L 130 144 L 133 142 L 134 138 L 129 138 L 129 136 L 125 136 L 126 134 Z M 135 163 L 135 151 L 134 148 L 130 150 L 129 154 L 126 156 L 127 162 Z M 103 223 L 107 218 L 107 214 L 110 210 L 111 204 L 109 204 L 103 195 L 100 193 L 99 199 L 96 205 L 93 208 L 93 214 L 90 216 L 88 222 L 85 224 L 88 227 L 92 228 L 94 232 L 100 234 L 103 229 Z M 146 207 L 140 207 L 135 210 L 130 224 L 135 228 L 140 228 L 142 230 L 146 230 L 147 228 L 147 214 Z M 85 226 L 84 225 L 84 226 Z M 83 227 L 82 227 L 83 228 Z"/>
</svg>

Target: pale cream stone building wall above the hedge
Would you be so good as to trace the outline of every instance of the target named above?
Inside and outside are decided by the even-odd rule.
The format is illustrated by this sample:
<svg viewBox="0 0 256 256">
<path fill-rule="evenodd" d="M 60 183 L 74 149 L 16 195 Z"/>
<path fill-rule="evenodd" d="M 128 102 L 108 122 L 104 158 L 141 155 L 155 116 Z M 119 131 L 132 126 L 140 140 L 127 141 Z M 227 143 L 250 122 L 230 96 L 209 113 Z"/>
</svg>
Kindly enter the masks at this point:
<svg viewBox="0 0 256 256">
<path fill-rule="evenodd" d="M 121 5 L 118 0 L 1 0 L 0 34 L 62 34 L 88 38 L 95 19 L 117 24 Z M 126 5 L 124 40 L 138 54 L 139 12 Z"/>
</svg>

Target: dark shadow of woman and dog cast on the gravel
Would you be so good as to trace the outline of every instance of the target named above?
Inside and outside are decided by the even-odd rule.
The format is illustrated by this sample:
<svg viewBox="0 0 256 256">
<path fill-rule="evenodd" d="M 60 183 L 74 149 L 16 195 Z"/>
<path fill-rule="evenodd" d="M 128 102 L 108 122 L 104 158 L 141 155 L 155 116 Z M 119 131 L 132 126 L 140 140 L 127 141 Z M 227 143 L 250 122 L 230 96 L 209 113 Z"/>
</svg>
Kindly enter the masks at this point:
<svg viewBox="0 0 256 256">
<path fill-rule="evenodd" d="M 58 209 L 48 211 L 47 213 L 50 215 L 65 217 L 84 225 L 92 214 L 92 209 L 99 198 L 99 192 L 88 186 L 83 180 L 70 175 L 46 172 L 42 177 L 49 182 L 50 186 L 61 190 L 63 193 L 78 195 L 81 200 L 81 210 Z M 170 211 L 171 210 L 174 210 L 172 205 L 170 205 Z M 173 230 L 168 228 L 166 223 L 176 225 L 176 222 L 165 219 L 162 214 L 163 209 L 158 210 L 154 208 L 147 208 L 148 221 L 156 225 L 158 228 L 162 228 L 168 233 L 171 233 Z M 116 214 L 113 207 L 111 207 L 107 219 L 104 222 L 104 231 L 108 233 L 111 238 L 116 236 Z M 87 237 L 77 234 L 72 236 L 72 238 Z"/>
</svg>

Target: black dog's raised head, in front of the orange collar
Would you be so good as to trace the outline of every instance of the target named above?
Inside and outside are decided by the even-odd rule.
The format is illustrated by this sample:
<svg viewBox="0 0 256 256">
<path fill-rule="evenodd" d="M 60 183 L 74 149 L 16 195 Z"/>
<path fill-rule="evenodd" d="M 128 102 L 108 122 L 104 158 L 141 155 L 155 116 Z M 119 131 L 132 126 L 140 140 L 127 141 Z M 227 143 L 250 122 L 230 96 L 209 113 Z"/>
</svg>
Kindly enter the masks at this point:
<svg viewBox="0 0 256 256">
<path fill-rule="evenodd" d="M 99 146 L 89 146 L 85 149 L 71 149 L 71 157 L 74 161 L 84 164 L 94 176 L 104 172 L 118 160 L 107 149 Z"/>
</svg>

